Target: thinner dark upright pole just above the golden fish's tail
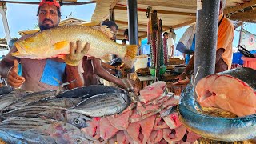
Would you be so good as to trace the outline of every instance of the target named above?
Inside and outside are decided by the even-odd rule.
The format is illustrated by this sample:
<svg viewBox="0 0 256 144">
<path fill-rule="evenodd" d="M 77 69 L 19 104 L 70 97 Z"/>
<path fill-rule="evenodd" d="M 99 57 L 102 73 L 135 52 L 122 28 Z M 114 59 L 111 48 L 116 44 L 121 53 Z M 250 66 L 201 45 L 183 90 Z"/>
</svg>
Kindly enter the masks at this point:
<svg viewBox="0 0 256 144">
<path fill-rule="evenodd" d="M 128 33 L 130 45 L 138 45 L 138 13 L 137 0 L 127 0 Z"/>
</svg>

